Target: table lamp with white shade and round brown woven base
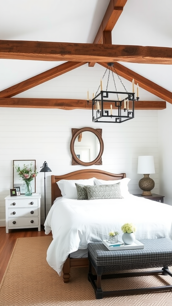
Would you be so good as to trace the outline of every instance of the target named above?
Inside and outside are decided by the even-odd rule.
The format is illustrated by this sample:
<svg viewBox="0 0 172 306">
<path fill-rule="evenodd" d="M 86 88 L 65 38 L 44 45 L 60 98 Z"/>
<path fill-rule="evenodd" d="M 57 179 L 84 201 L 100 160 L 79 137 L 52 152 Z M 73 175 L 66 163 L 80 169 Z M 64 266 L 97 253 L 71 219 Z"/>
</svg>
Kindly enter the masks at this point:
<svg viewBox="0 0 172 306">
<path fill-rule="evenodd" d="M 151 155 L 144 155 L 138 157 L 138 174 L 144 174 L 144 177 L 139 181 L 139 187 L 142 196 L 152 196 L 151 190 L 155 187 L 155 182 L 149 177 L 149 174 L 155 173 L 154 157 Z"/>
</svg>

